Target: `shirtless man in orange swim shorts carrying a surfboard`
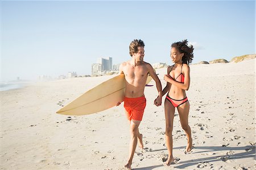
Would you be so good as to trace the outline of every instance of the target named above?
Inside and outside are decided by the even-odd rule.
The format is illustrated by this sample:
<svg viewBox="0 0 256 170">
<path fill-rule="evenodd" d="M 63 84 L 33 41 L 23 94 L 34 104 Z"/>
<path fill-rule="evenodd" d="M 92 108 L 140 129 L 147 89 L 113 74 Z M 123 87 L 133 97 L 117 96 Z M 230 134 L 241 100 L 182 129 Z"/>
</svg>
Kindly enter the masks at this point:
<svg viewBox="0 0 256 170">
<path fill-rule="evenodd" d="M 133 40 L 130 44 L 130 61 L 126 61 L 120 65 L 119 72 L 125 74 L 126 89 L 124 107 L 127 119 L 130 124 L 130 149 L 129 160 L 125 168 L 131 169 L 131 163 L 137 140 L 139 139 L 139 147 L 143 149 L 142 134 L 139 133 L 139 123 L 142 121 L 144 109 L 146 107 L 146 98 L 144 97 L 144 88 L 148 74 L 155 80 L 158 90 L 158 97 L 154 104 L 160 106 L 162 104 L 162 85 L 158 76 L 154 72 L 152 66 L 143 61 L 144 43 L 142 40 Z M 117 103 L 117 106 L 120 102 Z"/>
</svg>

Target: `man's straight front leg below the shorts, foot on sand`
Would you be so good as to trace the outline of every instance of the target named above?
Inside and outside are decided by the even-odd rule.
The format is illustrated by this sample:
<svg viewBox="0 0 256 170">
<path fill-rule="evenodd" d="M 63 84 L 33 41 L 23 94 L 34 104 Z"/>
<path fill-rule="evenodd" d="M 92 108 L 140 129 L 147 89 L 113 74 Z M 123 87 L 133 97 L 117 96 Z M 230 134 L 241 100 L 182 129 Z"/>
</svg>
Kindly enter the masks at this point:
<svg viewBox="0 0 256 170">
<path fill-rule="evenodd" d="M 129 160 L 128 160 L 128 163 L 125 165 L 125 168 L 127 168 L 127 169 L 131 169 L 131 163 L 133 161 L 133 155 L 134 155 L 134 152 L 135 152 L 135 148 L 137 146 L 139 123 L 141 123 L 141 121 L 135 121 L 133 119 L 130 122 L 131 139 L 130 139 L 130 149 L 129 149 Z"/>
</svg>

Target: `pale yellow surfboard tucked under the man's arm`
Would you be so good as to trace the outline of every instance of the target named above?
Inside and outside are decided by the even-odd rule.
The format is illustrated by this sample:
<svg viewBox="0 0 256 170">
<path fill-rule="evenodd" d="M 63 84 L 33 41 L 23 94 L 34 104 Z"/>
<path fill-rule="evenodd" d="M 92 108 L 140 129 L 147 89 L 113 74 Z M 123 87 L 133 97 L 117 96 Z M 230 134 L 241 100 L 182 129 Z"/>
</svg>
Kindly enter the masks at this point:
<svg viewBox="0 0 256 170">
<path fill-rule="evenodd" d="M 151 80 L 152 77 L 148 75 L 146 84 Z M 64 115 L 93 114 L 116 106 L 124 98 L 125 76 L 120 74 L 88 90 L 56 113 Z"/>
</svg>

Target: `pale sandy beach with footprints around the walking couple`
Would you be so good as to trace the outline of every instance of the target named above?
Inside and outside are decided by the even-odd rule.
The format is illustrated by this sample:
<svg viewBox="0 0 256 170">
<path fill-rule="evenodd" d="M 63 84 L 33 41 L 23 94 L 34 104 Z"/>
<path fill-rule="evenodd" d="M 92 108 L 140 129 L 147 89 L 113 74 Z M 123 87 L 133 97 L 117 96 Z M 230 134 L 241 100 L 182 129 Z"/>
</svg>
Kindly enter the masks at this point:
<svg viewBox="0 0 256 170">
<path fill-rule="evenodd" d="M 189 125 L 193 150 L 179 115 L 174 118 L 175 164 L 167 159 L 164 106 L 153 105 L 154 81 L 145 88 L 147 106 L 139 126 L 144 150 L 133 169 L 256 169 L 255 59 L 191 65 Z M 157 69 L 162 86 L 167 68 Z M 62 106 L 113 76 L 38 82 L 1 94 L 1 169 L 122 169 L 129 152 L 129 125 L 118 107 L 97 114 L 56 114 Z M 162 102 L 164 102 L 165 96 Z"/>
</svg>

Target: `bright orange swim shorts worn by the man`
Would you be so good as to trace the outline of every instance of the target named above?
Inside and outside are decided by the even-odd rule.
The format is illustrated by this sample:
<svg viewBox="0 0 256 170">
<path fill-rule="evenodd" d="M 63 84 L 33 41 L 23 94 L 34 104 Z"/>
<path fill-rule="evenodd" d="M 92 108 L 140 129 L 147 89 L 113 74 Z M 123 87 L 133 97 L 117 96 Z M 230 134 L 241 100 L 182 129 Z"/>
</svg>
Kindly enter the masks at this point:
<svg viewBox="0 0 256 170">
<path fill-rule="evenodd" d="M 131 121 L 131 119 L 142 121 L 144 109 L 146 107 L 146 98 L 144 96 L 137 98 L 125 97 L 124 107 L 129 121 Z"/>
</svg>

